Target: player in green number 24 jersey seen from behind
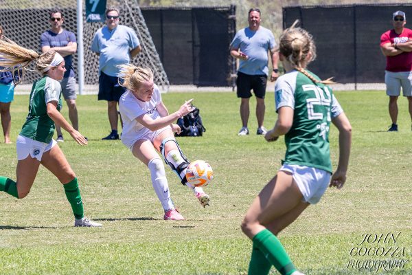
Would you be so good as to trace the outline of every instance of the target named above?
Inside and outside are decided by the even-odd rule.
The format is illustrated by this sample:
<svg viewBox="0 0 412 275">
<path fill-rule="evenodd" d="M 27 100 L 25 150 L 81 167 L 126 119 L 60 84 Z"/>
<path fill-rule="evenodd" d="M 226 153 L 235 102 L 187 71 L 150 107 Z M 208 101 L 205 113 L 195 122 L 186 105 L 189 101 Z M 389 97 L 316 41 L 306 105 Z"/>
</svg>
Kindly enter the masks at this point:
<svg viewBox="0 0 412 275">
<path fill-rule="evenodd" d="M 277 121 L 265 135 L 268 142 L 285 135 L 285 159 L 242 221 L 242 231 L 253 241 L 249 274 L 268 274 L 272 265 L 282 275 L 302 274 L 277 234 L 317 203 L 328 186 L 340 189 L 346 180 L 352 128 L 332 90 L 324 84 L 330 82 L 306 69 L 316 56 L 315 45 L 312 36 L 296 24 L 279 40 L 279 59 L 286 73 L 275 85 Z M 333 174 L 330 122 L 339 130 L 339 164 Z"/>
</svg>

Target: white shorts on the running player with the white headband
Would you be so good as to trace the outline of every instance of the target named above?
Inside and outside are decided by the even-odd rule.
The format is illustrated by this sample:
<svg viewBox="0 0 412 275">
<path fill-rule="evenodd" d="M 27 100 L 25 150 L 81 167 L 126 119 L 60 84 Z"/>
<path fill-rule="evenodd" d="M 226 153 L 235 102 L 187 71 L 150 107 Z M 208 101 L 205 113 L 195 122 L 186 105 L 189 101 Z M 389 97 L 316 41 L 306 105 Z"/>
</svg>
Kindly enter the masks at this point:
<svg viewBox="0 0 412 275">
<path fill-rule="evenodd" d="M 19 135 L 16 140 L 17 159 L 26 159 L 27 156 L 30 155 L 32 158 L 36 158 L 39 162 L 41 162 L 43 153 L 52 149 L 56 144 L 56 140 L 52 140 L 47 144 L 44 142 L 38 142 L 37 140 L 32 140 L 29 137 L 23 137 L 23 135 Z"/>
</svg>

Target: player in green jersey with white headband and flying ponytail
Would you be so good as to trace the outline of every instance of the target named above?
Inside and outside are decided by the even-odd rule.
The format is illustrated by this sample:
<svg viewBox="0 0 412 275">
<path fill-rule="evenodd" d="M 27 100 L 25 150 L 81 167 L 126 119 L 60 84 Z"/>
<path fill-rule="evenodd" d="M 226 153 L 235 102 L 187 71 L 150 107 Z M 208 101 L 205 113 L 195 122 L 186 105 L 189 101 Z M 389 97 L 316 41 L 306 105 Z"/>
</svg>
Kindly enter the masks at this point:
<svg viewBox="0 0 412 275">
<path fill-rule="evenodd" d="M 40 164 L 52 172 L 62 183 L 74 215 L 74 226 L 100 227 L 84 217 L 84 209 L 78 179 L 57 142 L 53 140 L 56 124 L 65 129 L 73 140 L 87 145 L 84 136 L 60 114 L 62 107 L 59 80 L 65 74 L 65 61 L 60 54 L 49 50 L 39 55 L 33 50 L 16 45 L 9 40 L 0 40 L 0 66 L 5 70 L 23 69 L 31 63 L 42 77 L 32 86 L 29 113 L 16 140 L 16 181 L 0 177 L 0 191 L 18 199 L 27 196 L 32 188 Z"/>
</svg>

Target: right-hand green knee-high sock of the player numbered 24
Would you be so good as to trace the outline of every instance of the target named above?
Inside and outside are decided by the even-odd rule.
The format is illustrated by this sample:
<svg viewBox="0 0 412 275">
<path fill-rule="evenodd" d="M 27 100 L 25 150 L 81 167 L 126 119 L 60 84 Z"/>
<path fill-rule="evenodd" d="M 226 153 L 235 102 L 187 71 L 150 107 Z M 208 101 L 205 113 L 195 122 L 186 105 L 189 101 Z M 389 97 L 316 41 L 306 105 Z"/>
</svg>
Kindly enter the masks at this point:
<svg viewBox="0 0 412 275">
<path fill-rule="evenodd" d="M 269 230 L 265 229 L 253 237 L 253 245 L 266 256 L 282 275 L 290 275 L 296 271 L 282 243 Z"/>
</svg>

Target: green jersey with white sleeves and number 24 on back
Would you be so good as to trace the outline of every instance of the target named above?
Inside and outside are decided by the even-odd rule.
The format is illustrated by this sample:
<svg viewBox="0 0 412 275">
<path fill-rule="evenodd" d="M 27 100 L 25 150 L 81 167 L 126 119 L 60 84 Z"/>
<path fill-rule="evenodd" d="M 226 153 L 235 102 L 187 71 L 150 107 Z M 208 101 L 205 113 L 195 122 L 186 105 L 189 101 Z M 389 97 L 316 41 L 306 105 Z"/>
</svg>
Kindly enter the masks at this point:
<svg viewBox="0 0 412 275">
<path fill-rule="evenodd" d="M 285 106 L 294 109 L 292 127 L 285 135 L 284 163 L 332 173 L 329 126 L 331 119 L 343 112 L 332 89 L 294 70 L 277 80 L 275 102 L 277 110 Z"/>
</svg>

